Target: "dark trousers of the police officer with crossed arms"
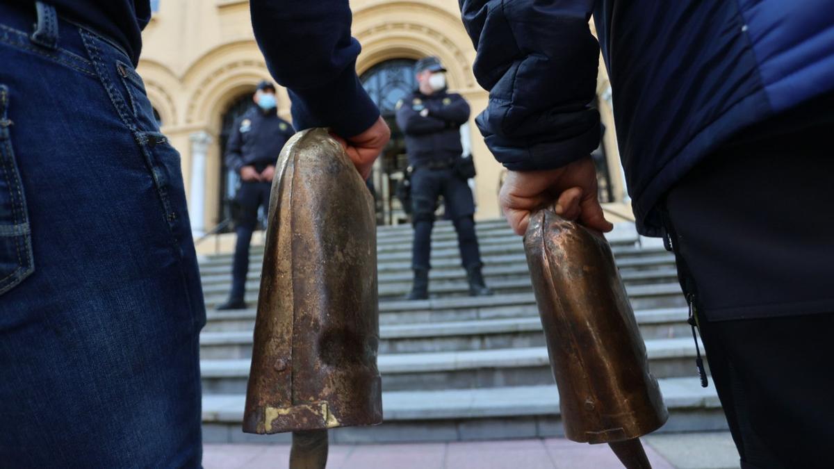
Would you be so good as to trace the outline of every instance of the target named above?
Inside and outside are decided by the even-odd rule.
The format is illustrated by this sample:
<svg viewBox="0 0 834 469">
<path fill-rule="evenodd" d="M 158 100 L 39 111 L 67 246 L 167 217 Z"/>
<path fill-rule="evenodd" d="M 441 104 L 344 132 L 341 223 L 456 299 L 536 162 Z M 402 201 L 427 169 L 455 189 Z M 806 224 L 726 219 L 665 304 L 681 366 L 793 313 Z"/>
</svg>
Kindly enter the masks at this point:
<svg viewBox="0 0 834 469">
<path fill-rule="evenodd" d="M 446 217 L 455 224 L 461 265 L 465 269 L 480 267 L 480 249 L 475 235 L 475 200 L 464 179 L 452 169 L 415 169 L 411 176 L 414 245 L 411 264 L 416 269 L 431 268 L 431 230 L 435 226 L 435 207 L 443 195 Z"/>
</svg>

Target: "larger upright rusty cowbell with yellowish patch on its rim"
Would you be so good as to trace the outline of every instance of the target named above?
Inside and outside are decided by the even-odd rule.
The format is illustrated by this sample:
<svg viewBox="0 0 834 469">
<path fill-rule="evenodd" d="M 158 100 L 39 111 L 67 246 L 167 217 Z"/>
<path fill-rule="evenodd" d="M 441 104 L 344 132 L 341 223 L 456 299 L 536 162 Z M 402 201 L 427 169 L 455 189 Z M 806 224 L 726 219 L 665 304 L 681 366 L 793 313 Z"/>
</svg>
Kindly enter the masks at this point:
<svg viewBox="0 0 834 469">
<path fill-rule="evenodd" d="M 324 129 L 281 152 L 244 431 L 382 422 L 374 199 Z"/>
</svg>

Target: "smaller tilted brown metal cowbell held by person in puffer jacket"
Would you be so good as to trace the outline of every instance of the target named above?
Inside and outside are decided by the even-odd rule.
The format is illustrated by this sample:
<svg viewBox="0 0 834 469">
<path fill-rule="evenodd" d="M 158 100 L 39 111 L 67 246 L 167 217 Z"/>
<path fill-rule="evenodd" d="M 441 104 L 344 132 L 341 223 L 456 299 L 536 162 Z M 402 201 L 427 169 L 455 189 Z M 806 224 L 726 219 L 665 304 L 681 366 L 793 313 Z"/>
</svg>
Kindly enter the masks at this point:
<svg viewBox="0 0 834 469">
<path fill-rule="evenodd" d="M 565 436 L 611 443 L 661 427 L 668 412 L 605 237 L 543 209 L 524 242 Z"/>
</svg>

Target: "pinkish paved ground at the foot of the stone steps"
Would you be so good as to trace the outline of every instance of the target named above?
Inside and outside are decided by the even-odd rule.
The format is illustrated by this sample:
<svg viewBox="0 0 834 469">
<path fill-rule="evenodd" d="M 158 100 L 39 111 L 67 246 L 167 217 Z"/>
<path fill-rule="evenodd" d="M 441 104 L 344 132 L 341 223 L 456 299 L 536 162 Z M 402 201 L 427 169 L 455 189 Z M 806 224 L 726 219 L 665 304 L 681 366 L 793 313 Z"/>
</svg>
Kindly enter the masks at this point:
<svg viewBox="0 0 834 469">
<path fill-rule="evenodd" d="M 648 436 L 646 453 L 654 469 L 736 469 L 730 434 Z M 206 445 L 205 469 L 285 468 L 287 445 Z M 330 446 L 329 469 L 619 469 L 604 445 L 546 440 Z"/>
</svg>

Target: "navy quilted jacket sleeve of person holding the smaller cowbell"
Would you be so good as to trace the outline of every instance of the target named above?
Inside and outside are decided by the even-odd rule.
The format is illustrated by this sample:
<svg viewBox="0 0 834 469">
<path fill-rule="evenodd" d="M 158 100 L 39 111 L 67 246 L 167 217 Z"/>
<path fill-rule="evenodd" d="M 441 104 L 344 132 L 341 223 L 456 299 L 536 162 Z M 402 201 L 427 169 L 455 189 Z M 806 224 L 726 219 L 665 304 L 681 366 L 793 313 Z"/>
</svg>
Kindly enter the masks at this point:
<svg viewBox="0 0 834 469">
<path fill-rule="evenodd" d="M 459 0 L 490 92 L 475 123 L 495 159 L 516 171 L 551 169 L 599 144 L 600 49 L 588 20 L 595 0 Z"/>
</svg>

